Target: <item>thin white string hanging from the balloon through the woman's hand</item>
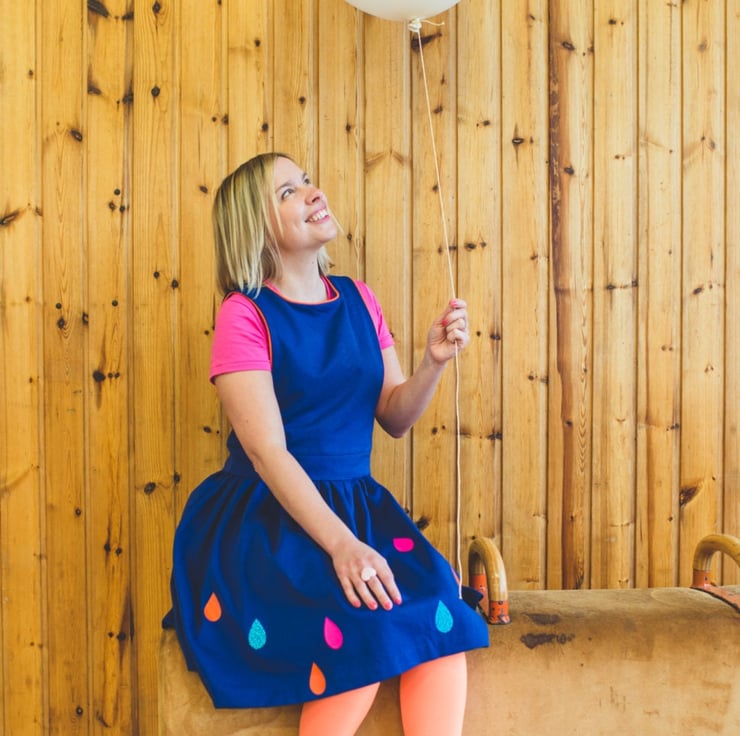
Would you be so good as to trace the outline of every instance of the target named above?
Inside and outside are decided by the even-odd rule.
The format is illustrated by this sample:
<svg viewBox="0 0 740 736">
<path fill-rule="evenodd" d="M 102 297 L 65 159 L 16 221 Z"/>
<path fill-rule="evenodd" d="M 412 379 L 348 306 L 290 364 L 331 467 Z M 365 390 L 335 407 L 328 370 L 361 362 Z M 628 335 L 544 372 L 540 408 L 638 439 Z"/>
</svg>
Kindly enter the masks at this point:
<svg viewBox="0 0 740 736">
<path fill-rule="evenodd" d="M 431 21 L 425 21 L 430 23 Z M 432 25 L 442 25 L 434 23 Z M 439 161 L 437 157 L 437 144 L 434 138 L 434 121 L 432 119 L 432 105 L 429 101 L 429 84 L 427 82 L 427 70 L 424 64 L 424 48 L 421 42 L 421 20 L 418 18 L 409 23 L 409 30 L 416 34 L 416 41 L 419 46 L 419 59 L 421 61 L 421 76 L 424 80 L 424 97 L 427 105 L 427 120 L 429 122 L 429 133 L 432 141 L 432 156 L 434 157 L 434 171 L 437 177 L 437 194 L 439 195 L 439 210 L 442 219 L 442 231 L 444 234 L 445 253 L 447 254 L 447 270 L 450 277 L 450 290 L 452 298 L 455 298 L 455 277 L 452 268 L 452 255 L 450 254 L 450 239 L 447 233 L 447 215 L 445 214 L 444 196 L 442 194 L 442 177 L 439 173 Z M 461 513 L 461 462 L 460 462 L 460 359 L 455 343 L 455 544 L 456 544 L 456 563 L 457 563 L 457 592 L 462 598 L 462 562 L 460 553 L 461 531 L 460 531 L 460 513 Z"/>
</svg>

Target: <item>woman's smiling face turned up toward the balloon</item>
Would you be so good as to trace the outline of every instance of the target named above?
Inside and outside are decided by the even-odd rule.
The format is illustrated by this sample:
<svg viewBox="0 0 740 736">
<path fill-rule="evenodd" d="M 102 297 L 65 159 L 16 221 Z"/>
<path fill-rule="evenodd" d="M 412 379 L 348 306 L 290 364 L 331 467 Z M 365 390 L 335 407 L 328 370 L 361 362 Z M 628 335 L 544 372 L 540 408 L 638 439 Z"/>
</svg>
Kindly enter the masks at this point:
<svg viewBox="0 0 740 736">
<path fill-rule="evenodd" d="M 281 226 L 275 227 L 275 235 L 283 253 L 318 250 L 336 237 L 326 196 L 295 162 L 276 159 L 273 186 Z"/>
</svg>

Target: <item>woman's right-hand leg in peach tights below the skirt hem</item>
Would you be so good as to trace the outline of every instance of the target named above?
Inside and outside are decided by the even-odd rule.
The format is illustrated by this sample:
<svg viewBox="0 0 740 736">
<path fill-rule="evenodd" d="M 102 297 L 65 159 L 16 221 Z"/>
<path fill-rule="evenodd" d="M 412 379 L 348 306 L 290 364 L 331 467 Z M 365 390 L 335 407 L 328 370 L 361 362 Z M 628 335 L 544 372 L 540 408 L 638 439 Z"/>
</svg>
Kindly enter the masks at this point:
<svg viewBox="0 0 740 736">
<path fill-rule="evenodd" d="M 468 692 L 464 652 L 404 672 L 400 688 L 405 736 L 461 736 Z"/>
</svg>

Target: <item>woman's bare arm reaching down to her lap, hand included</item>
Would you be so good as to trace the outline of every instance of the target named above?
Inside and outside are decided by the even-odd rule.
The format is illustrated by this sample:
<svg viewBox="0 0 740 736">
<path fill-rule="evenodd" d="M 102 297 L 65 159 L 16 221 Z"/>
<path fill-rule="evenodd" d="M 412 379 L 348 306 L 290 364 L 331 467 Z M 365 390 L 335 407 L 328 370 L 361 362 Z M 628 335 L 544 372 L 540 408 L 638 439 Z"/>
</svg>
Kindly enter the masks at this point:
<svg viewBox="0 0 740 736">
<path fill-rule="evenodd" d="M 215 378 L 216 390 L 255 470 L 288 514 L 332 558 L 349 602 L 369 608 L 391 607 L 401 596 L 385 559 L 360 542 L 329 508 L 316 486 L 288 451 L 280 409 L 268 371 L 238 371 Z M 245 400 L 248 397 L 248 400 Z M 373 567 L 368 583 L 360 573 Z"/>
</svg>

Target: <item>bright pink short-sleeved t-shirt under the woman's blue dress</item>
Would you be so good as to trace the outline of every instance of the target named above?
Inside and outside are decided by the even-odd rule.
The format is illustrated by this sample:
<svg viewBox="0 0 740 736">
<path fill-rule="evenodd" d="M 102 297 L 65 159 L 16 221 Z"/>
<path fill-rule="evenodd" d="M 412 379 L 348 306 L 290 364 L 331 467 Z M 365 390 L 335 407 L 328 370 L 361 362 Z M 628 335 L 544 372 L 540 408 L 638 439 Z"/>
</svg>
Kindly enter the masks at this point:
<svg viewBox="0 0 740 736">
<path fill-rule="evenodd" d="M 380 304 L 367 284 L 362 281 L 355 281 L 355 284 L 370 312 L 378 333 L 380 349 L 384 350 L 393 345 L 393 336 Z M 263 288 L 271 287 L 266 285 Z M 327 289 L 332 291 L 330 286 Z M 267 329 L 259 312 L 254 303 L 244 295 L 238 292 L 230 294 L 221 304 L 216 316 L 211 347 L 211 381 L 222 373 L 271 369 Z"/>
</svg>

